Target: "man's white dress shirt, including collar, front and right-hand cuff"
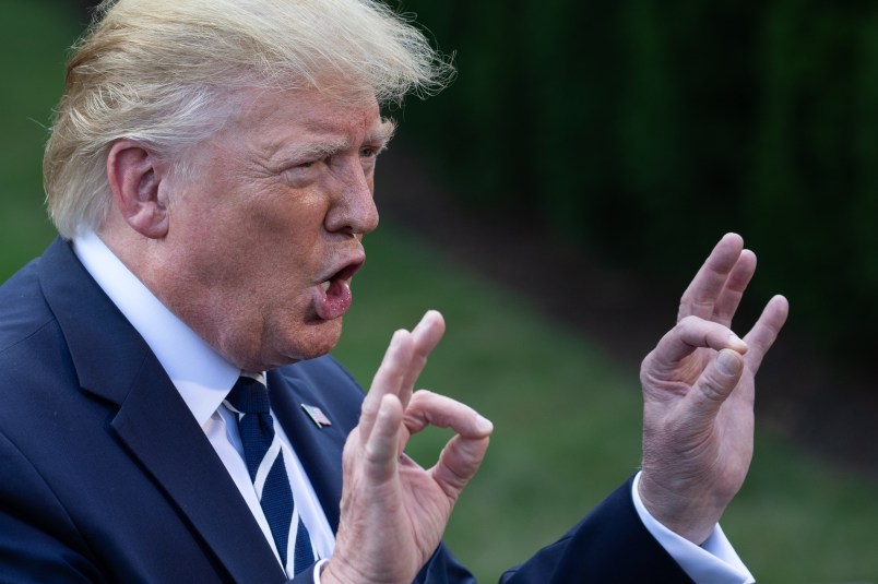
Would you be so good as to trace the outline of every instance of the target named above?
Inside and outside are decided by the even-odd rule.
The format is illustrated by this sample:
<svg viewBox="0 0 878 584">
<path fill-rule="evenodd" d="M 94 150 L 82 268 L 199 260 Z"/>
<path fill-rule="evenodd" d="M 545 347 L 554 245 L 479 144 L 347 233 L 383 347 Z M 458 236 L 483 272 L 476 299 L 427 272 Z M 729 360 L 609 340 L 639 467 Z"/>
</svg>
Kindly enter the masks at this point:
<svg viewBox="0 0 878 584">
<path fill-rule="evenodd" d="M 76 237 L 73 240 L 73 250 L 98 286 L 143 336 L 162 363 L 223 461 L 280 563 L 281 558 L 274 538 L 244 461 L 244 449 L 235 414 L 223 405 L 241 371 L 221 357 L 158 301 L 97 235 L 88 231 Z M 313 486 L 280 424 L 275 425 L 275 431 L 284 445 L 284 463 L 293 488 L 293 497 L 311 537 L 315 557 L 325 562 L 332 556 L 335 536 L 320 506 Z M 640 520 L 689 577 L 699 584 L 755 582 L 719 525 L 714 527 L 713 534 L 704 545 L 699 547 L 650 515 L 638 494 L 639 479 L 638 474 L 631 496 Z M 319 574 L 318 569 L 315 571 L 316 584 L 320 583 Z"/>
</svg>

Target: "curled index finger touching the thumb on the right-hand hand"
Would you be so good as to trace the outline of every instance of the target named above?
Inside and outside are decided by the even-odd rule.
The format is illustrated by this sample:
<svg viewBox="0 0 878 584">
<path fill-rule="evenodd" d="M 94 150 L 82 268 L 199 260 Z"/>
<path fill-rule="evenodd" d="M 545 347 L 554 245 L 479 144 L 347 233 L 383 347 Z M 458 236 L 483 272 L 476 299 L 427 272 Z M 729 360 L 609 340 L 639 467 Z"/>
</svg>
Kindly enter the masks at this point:
<svg viewBox="0 0 878 584">
<path fill-rule="evenodd" d="M 686 317 L 658 341 L 646 357 L 644 368 L 649 368 L 650 374 L 663 379 L 676 371 L 685 357 L 701 347 L 747 351 L 747 344 L 727 326 L 698 317 Z"/>
</svg>

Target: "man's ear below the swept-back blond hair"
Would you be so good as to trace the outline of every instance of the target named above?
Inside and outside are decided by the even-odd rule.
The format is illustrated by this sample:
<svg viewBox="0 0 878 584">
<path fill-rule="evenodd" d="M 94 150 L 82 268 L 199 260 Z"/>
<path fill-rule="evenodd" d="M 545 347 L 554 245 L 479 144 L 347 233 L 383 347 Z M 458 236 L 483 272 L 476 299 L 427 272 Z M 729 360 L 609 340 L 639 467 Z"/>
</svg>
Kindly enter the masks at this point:
<svg viewBox="0 0 878 584">
<path fill-rule="evenodd" d="M 165 166 L 142 144 L 120 140 L 107 156 L 107 178 L 112 199 L 126 223 L 151 239 L 168 231 L 168 199 L 162 187 Z"/>
</svg>

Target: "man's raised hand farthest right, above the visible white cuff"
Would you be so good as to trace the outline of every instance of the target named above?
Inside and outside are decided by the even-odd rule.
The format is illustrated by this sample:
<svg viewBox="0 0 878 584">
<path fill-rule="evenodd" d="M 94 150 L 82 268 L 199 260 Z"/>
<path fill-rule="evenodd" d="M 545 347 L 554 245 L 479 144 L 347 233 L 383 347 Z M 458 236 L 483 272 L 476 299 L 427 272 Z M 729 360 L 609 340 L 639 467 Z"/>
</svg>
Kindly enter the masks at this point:
<svg viewBox="0 0 878 584">
<path fill-rule="evenodd" d="M 702 544 L 738 492 L 754 450 L 754 376 L 786 320 L 775 296 L 741 341 L 729 329 L 756 270 L 723 237 L 683 295 L 677 325 L 643 360 L 639 492 L 669 529 Z"/>
</svg>

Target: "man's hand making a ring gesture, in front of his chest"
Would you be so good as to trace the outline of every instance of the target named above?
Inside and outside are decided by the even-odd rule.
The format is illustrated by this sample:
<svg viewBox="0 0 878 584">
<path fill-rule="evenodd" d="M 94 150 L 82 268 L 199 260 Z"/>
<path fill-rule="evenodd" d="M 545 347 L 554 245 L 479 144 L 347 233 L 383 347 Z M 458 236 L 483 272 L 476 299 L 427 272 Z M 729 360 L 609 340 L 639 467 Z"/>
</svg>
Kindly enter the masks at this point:
<svg viewBox="0 0 878 584">
<path fill-rule="evenodd" d="M 482 464 L 491 424 L 449 397 L 412 392 L 443 332 L 442 317 L 430 311 L 411 333 L 393 335 L 345 444 L 341 523 L 323 584 L 412 582 Z M 456 434 L 424 469 L 403 449 L 428 425 Z"/>
</svg>

